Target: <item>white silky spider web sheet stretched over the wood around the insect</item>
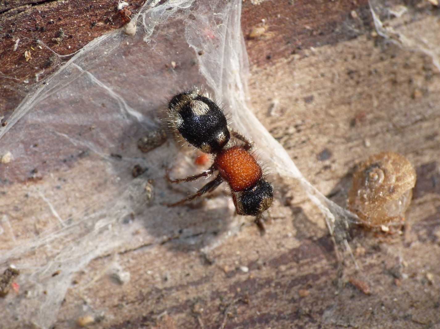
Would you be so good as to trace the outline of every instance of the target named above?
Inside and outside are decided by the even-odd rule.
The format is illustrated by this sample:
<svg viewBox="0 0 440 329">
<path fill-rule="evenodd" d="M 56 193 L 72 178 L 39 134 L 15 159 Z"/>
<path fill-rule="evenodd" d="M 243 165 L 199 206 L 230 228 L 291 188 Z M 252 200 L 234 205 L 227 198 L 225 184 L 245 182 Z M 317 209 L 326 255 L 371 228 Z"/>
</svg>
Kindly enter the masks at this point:
<svg viewBox="0 0 440 329">
<path fill-rule="evenodd" d="M 0 167 L 0 264 L 20 269 L 17 281 L 26 291 L 0 301 L 5 327 L 50 327 L 74 275 L 92 259 L 122 246 L 161 243 L 181 226 L 176 211 L 161 205 L 169 200 L 164 166 L 178 147 L 169 141 L 142 154 L 137 140 L 159 128 L 165 100 L 182 88 L 205 86 L 221 100 L 234 128 L 252 137 L 274 174 L 297 179 L 337 243 L 346 243 L 352 214 L 301 175 L 247 107 L 240 14 L 241 0 L 147 1 L 133 17 L 134 36 L 118 30 L 89 43 L 37 82 L 0 128 L 0 154 L 11 152 Z M 148 170 L 133 179 L 135 164 Z M 147 179 L 155 181 L 152 200 L 145 196 Z M 219 205 L 232 216 L 229 198 L 208 207 Z M 240 227 L 216 218 L 204 225 L 184 234 L 226 225 L 220 231 L 227 233 L 205 241 L 215 247 Z M 139 230 L 145 234 L 134 239 Z"/>
</svg>

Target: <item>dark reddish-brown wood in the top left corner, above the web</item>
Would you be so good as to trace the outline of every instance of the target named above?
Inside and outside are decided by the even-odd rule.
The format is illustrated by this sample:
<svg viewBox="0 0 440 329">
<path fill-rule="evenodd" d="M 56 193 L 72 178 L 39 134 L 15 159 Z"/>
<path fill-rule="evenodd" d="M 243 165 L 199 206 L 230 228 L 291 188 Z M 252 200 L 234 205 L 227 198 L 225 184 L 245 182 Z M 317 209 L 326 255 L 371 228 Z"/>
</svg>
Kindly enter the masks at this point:
<svg viewBox="0 0 440 329">
<path fill-rule="evenodd" d="M 141 5 L 132 2 L 130 8 L 136 12 Z M 68 55 L 124 25 L 116 6 L 117 1 L 101 0 L 0 3 L 0 117 L 5 116 L 2 122 L 19 104 L 29 86 L 37 82 L 36 74 L 40 74 L 38 80 L 43 79 L 68 60 Z M 57 39 L 60 29 L 64 37 Z M 17 39 L 20 41 L 14 51 Z M 26 50 L 31 53 L 29 61 L 24 56 Z"/>
</svg>

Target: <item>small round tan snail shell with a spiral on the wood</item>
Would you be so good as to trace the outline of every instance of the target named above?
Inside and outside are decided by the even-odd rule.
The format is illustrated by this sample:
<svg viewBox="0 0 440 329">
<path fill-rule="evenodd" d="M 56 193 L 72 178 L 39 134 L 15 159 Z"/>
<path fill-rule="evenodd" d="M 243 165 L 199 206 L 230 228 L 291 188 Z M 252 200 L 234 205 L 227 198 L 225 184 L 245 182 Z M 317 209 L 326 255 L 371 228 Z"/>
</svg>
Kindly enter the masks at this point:
<svg viewBox="0 0 440 329">
<path fill-rule="evenodd" d="M 368 227 L 399 225 L 411 203 L 416 173 L 405 157 L 382 152 L 360 163 L 348 193 L 348 208 Z"/>
</svg>

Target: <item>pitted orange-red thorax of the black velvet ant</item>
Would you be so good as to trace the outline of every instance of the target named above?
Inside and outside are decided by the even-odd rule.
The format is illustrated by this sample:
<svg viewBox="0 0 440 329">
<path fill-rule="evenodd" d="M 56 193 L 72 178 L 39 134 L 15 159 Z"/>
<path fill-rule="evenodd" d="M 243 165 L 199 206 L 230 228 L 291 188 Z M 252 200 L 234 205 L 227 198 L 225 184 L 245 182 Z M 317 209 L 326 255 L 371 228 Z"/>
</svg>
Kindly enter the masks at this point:
<svg viewBox="0 0 440 329">
<path fill-rule="evenodd" d="M 253 186 L 263 175 L 257 161 L 242 146 L 221 151 L 214 164 L 234 192 Z"/>
</svg>

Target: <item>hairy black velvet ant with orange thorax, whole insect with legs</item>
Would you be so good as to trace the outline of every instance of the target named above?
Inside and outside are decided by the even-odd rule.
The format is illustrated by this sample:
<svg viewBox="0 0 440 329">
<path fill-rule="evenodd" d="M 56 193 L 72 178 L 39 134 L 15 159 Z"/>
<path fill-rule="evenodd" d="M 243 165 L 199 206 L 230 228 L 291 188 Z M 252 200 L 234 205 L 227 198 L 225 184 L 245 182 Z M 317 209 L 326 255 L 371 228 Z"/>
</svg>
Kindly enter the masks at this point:
<svg viewBox="0 0 440 329">
<path fill-rule="evenodd" d="M 221 108 L 198 89 L 172 97 L 168 104 L 168 112 L 169 122 L 173 129 L 194 147 L 215 156 L 213 165 L 198 175 L 170 179 L 167 172 L 169 182 L 191 182 L 202 177 L 209 177 L 215 171 L 219 171 L 215 179 L 205 184 L 196 193 L 168 206 L 178 206 L 200 197 L 204 193 L 215 190 L 224 181 L 232 186 L 232 180 L 234 182 L 238 180 L 239 185 L 242 180 L 246 181 L 257 172 L 255 180 L 251 180 L 248 186 L 243 187 L 242 190 L 234 190 L 231 187 L 231 192 L 237 214 L 257 216 L 255 222 L 262 229 L 260 215 L 272 205 L 273 187 L 264 178 L 260 165 L 249 152 L 253 144 L 238 132 L 230 129 Z M 230 142 L 231 137 L 242 141 L 244 145 L 234 146 L 236 144 Z M 238 148 L 239 152 L 231 152 L 234 148 Z M 222 161 L 218 161 L 220 157 Z M 249 163 L 255 165 L 249 166 Z"/>
</svg>

